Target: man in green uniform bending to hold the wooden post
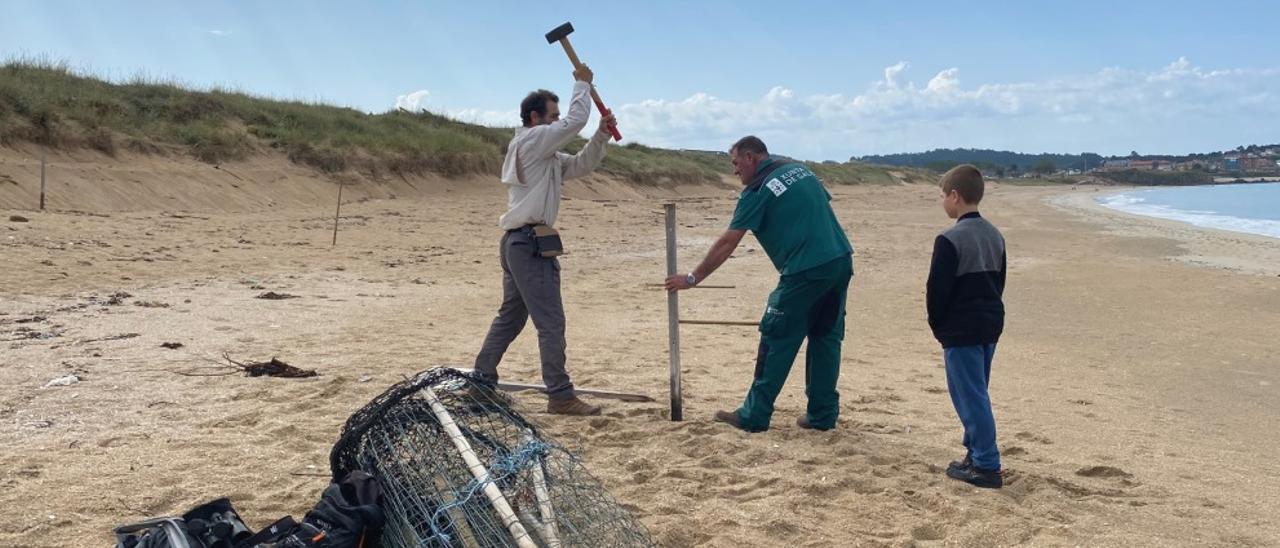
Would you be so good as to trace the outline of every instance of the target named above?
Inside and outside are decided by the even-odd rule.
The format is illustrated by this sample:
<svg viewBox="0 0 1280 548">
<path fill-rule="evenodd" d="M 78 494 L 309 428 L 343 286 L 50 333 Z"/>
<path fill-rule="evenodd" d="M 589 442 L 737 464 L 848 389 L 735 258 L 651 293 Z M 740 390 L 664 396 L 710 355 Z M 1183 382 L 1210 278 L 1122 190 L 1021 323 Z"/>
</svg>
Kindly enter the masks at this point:
<svg viewBox="0 0 1280 548">
<path fill-rule="evenodd" d="M 831 209 L 831 195 L 809 168 L 769 157 L 764 142 L 754 136 L 733 143 L 730 157 L 733 173 L 746 187 L 733 220 L 694 271 L 667 278 L 667 291 L 689 289 L 707 279 L 751 230 L 781 277 L 760 319 L 755 380 L 746 401 L 737 411 L 716 412 L 716 420 L 746 431 L 768 430 L 773 401 L 787 380 L 800 343 L 808 338 L 809 407 L 796 424 L 829 430 L 840 414 L 836 379 L 854 248 Z"/>
</svg>

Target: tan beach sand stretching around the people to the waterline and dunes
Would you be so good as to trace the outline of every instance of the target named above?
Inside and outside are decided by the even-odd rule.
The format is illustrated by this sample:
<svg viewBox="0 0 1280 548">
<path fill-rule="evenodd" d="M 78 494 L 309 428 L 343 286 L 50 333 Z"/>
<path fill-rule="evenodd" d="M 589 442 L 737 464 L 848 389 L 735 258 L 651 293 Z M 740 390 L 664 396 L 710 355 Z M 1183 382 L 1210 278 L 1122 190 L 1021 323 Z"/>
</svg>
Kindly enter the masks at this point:
<svg viewBox="0 0 1280 548">
<path fill-rule="evenodd" d="M 227 175 L 196 163 L 59 156 L 100 174 L 59 183 L 61 211 L 40 214 L 13 209 L 29 209 L 32 172 L 5 154 L 0 545 L 109 545 L 115 525 L 223 496 L 253 526 L 301 516 L 347 416 L 404 375 L 470 366 L 499 303 L 504 195 L 485 178 L 353 181 L 330 247 L 333 182 L 279 159 L 219 169 L 275 183 L 212 191 Z M 141 182 L 106 173 L 122 169 Z M 579 419 L 517 399 L 663 545 L 1280 544 L 1280 242 L 1107 211 L 1085 188 L 991 188 L 983 211 L 1011 257 L 991 387 L 1007 485 L 979 490 L 942 475 L 963 448 L 924 323 L 948 224 L 936 189 L 833 189 L 858 248 L 840 425 L 795 426 L 797 367 L 774 428 L 744 434 L 710 415 L 740 403 L 756 333 L 682 329 L 686 420 L 672 423 L 666 298 L 646 287 L 664 273 L 660 204 L 678 202 L 691 266 L 732 187 L 571 187 L 571 371 L 659 401 Z M 758 319 L 774 280 L 748 238 L 707 282 L 736 289 L 682 293 L 682 315 Z M 255 298 L 268 291 L 298 298 Z M 188 376 L 224 353 L 320 376 Z M 536 356 L 529 328 L 506 378 L 538 382 Z M 42 388 L 68 374 L 81 380 Z"/>
</svg>

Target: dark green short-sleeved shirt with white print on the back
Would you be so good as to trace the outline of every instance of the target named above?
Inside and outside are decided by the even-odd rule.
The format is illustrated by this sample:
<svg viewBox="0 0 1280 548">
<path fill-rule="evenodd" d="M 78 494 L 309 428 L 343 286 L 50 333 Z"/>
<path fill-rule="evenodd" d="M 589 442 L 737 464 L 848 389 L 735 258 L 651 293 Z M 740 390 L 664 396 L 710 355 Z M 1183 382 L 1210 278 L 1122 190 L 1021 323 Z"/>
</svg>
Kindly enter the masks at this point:
<svg viewBox="0 0 1280 548">
<path fill-rule="evenodd" d="M 831 195 L 809 168 L 765 159 L 742 189 L 728 224 L 751 230 L 778 274 L 831 262 L 854 247 L 831 209 Z"/>
</svg>

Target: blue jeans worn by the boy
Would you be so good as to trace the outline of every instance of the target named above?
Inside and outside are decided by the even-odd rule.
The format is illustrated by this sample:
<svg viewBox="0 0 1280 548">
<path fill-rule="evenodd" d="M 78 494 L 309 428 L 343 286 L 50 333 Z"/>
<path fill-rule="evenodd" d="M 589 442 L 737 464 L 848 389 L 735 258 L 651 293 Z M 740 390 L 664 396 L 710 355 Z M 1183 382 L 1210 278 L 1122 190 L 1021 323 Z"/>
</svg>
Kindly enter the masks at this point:
<svg viewBox="0 0 1280 548">
<path fill-rule="evenodd" d="M 973 463 L 983 470 L 1000 470 L 996 448 L 996 417 L 991 414 L 991 360 L 996 344 L 942 348 L 947 367 L 947 391 L 964 425 L 964 447 Z"/>
</svg>

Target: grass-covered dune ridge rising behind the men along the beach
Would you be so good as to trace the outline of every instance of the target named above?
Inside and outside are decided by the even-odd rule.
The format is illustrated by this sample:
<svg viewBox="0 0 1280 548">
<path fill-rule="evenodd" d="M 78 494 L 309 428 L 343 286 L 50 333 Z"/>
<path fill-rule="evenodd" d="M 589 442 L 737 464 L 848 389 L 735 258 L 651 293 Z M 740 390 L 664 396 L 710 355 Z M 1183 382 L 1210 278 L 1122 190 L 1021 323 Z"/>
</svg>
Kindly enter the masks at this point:
<svg viewBox="0 0 1280 548">
<path fill-rule="evenodd" d="M 425 111 L 367 114 L 164 81 L 113 83 L 46 61 L 0 64 L 0 145 L 183 154 L 210 164 L 278 151 L 324 173 L 462 177 L 498 173 L 511 132 Z M 863 163 L 812 165 L 837 184 L 925 177 Z M 600 170 L 637 184 L 714 183 L 732 174 L 723 154 L 637 143 L 612 149 Z"/>
</svg>

